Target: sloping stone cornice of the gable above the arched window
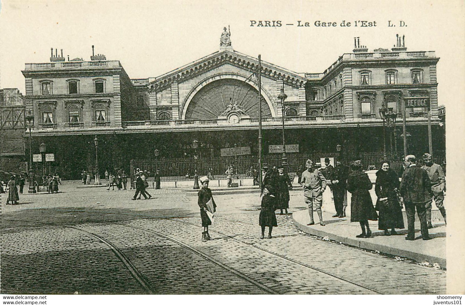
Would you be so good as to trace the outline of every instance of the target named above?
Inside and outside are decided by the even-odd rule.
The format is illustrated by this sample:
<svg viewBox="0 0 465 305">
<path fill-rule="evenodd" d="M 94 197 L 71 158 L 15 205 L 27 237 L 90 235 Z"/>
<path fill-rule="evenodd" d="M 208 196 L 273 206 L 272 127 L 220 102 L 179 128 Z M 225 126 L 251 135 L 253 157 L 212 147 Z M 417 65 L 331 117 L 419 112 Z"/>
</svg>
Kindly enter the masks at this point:
<svg viewBox="0 0 465 305">
<path fill-rule="evenodd" d="M 181 83 L 222 65 L 230 64 L 247 72 L 254 72 L 258 68 L 258 59 L 237 51 L 224 50 L 207 55 L 193 63 L 177 68 L 147 84 L 151 91 L 159 92 L 171 86 L 176 81 Z M 261 62 L 261 75 L 272 80 L 282 80 L 285 84 L 299 88 L 306 83 L 306 78 L 296 72 L 275 66 L 266 61 Z"/>
</svg>

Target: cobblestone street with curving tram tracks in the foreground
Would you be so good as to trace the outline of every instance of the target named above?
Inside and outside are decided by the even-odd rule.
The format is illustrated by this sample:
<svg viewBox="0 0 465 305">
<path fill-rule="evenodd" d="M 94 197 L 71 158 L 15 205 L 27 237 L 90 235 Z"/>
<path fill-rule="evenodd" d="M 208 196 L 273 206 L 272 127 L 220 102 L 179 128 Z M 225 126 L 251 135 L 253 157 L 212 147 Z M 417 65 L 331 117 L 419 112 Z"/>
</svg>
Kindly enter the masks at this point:
<svg viewBox="0 0 465 305">
<path fill-rule="evenodd" d="M 260 239 L 259 194 L 214 196 L 201 242 L 185 190 L 76 189 L 1 203 L 1 292 L 84 294 L 443 294 L 446 271 L 304 234 L 277 215 Z M 291 193 L 290 212 L 303 209 Z"/>
</svg>

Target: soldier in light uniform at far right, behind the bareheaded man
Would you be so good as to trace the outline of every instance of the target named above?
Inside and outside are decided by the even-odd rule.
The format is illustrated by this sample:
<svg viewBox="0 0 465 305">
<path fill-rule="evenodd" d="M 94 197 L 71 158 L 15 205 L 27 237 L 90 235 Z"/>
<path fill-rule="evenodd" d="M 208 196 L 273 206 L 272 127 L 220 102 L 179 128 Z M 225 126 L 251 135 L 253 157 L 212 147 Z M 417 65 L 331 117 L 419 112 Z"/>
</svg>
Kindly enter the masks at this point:
<svg viewBox="0 0 465 305">
<path fill-rule="evenodd" d="M 445 208 L 444 208 L 444 189 L 445 189 L 445 175 L 444 170 L 439 164 L 432 162 L 432 157 L 430 154 L 425 153 L 423 155 L 423 161 L 425 165 L 421 168 L 425 169 L 428 173 L 428 176 L 431 180 L 431 190 L 433 193 L 432 199 L 434 198 L 434 203 L 436 207 L 441 212 L 444 222 L 445 220 Z M 433 225 L 431 224 L 431 209 L 432 209 L 432 199 L 426 203 L 426 222 L 428 224 L 428 229 L 432 229 Z"/>
</svg>

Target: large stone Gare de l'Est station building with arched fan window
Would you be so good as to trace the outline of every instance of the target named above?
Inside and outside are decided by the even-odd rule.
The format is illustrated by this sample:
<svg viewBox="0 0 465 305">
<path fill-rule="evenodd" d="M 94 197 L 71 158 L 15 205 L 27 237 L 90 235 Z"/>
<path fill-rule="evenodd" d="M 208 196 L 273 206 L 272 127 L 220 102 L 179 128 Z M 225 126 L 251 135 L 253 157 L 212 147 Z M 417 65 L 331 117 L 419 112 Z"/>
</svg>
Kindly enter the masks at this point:
<svg viewBox="0 0 465 305">
<path fill-rule="evenodd" d="M 322 73 L 296 73 L 261 61 L 263 153 L 282 143 L 299 154 L 356 156 L 393 146 L 403 154 L 402 107 L 407 97 L 428 97 L 434 149 L 444 149 L 439 126 L 434 51 L 407 51 L 401 37 L 391 49 L 369 51 L 354 41 Z M 55 52 L 53 52 L 55 51 Z M 219 51 L 157 77 L 131 79 L 120 61 L 94 54 L 66 61 L 52 49 L 50 62 L 27 63 L 26 114 L 34 116 L 32 150 L 54 153 L 63 176 L 129 168 L 131 159 L 220 157 L 220 149 L 250 147 L 258 155 L 258 56 L 220 43 Z M 284 105 L 278 95 L 284 88 Z M 385 129 L 380 108 L 397 113 L 395 133 Z M 406 109 L 409 153 L 428 151 L 428 108 Z M 395 136 L 394 136 L 395 134 Z M 28 136 L 26 133 L 25 136 Z M 392 141 L 395 139 L 394 144 Z M 294 145 L 295 147 L 295 145 Z M 288 154 L 292 158 L 292 154 Z M 102 173 L 100 173 L 102 174 Z"/>
</svg>

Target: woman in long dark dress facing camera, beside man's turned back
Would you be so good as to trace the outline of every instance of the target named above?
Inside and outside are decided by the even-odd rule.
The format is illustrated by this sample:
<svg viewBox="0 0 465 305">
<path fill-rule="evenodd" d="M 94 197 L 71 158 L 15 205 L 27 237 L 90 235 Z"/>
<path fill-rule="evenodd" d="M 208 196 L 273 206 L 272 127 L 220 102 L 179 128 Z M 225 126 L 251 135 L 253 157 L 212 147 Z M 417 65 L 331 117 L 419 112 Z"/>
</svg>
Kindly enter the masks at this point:
<svg viewBox="0 0 465 305">
<path fill-rule="evenodd" d="M 378 200 L 376 210 L 379 211 L 378 229 L 384 230 L 384 235 L 396 235 L 397 229 L 404 229 L 402 206 L 397 198 L 399 178 L 395 171 L 390 169 L 390 163 L 385 161 L 376 173 L 375 192 Z M 391 229 L 391 233 L 389 230 Z"/>
</svg>

